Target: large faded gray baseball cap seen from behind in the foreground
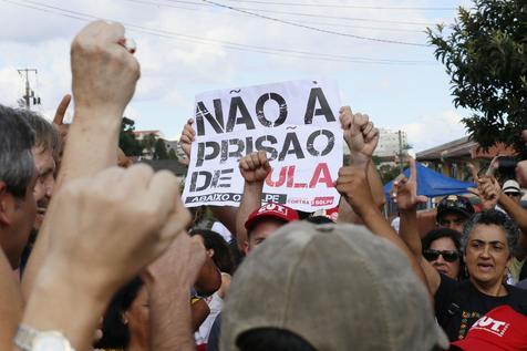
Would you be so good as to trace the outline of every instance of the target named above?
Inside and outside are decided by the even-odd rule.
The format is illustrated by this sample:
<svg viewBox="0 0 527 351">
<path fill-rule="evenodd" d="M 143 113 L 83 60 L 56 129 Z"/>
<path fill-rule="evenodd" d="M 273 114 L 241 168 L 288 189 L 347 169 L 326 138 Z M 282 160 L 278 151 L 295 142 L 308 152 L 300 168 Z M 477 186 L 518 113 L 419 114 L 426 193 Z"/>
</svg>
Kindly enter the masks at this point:
<svg viewBox="0 0 527 351">
<path fill-rule="evenodd" d="M 286 329 L 319 351 L 448 348 L 407 258 L 354 225 L 280 228 L 238 268 L 221 324 L 223 351 L 257 328 Z"/>
</svg>

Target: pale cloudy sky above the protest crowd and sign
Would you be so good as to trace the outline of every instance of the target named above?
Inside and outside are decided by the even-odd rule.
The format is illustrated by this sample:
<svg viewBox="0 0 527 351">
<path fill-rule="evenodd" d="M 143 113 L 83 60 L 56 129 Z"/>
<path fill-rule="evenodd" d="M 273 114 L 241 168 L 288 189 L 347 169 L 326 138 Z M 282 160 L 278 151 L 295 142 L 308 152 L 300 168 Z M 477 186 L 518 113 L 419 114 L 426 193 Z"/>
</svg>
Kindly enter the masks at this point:
<svg viewBox="0 0 527 351">
<path fill-rule="evenodd" d="M 170 33 L 187 35 L 177 37 L 176 39 L 159 38 L 147 34 L 137 27 L 135 27 L 135 30 L 128 27 L 127 31 L 127 35 L 134 38 L 137 42 L 136 56 L 142 65 L 142 79 L 137 84 L 132 107 L 126 113 L 132 111 L 132 114 L 137 116 L 140 128 L 161 128 L 167 135 L 174 135 L 180 131 L 182 121 L 186 121 L 187 113 L 192 111 L 189 106 L 193 105 L 194 95 L 214 89 L 292 79 L 329 78 L 339 81 L 342 96 L 347 97 L 343 102 L 351 101 L 355 103 L 356 94 L 351 93 L 355 89 L 363 90 L 372 96 L 371 101 L 361 99 L 358 102 L 363 111 L 370 111 L 370 106 L 376 103 L 375 99 L 390 95 L 399 97 L 400 94 L 405 93 L 405 82 L 401 82 L 400 78 L 393 76 L 393 74 L 404 69 L 397 65 L 380 66 L 375 64 L 299 60 L 288 55 L 266 55 L 230 50 L 227 49 L 227 45 L 220 44 L 220 41 L 324 54 L 433 61 L 430 49 L 379 44 L 371 41 L 323 34 L 217 8 L 187 4 L 184 7 L 193 8 L 193 11 L 175 9 L 168 7 L 175 6 L 175 2 L 165 0 L 144 0 L 140 2 L 157 2 L 166 6 L 152 6 L 130 0 L 38 1 L 71 11 L 123 21 L 132 25 L 157 29 L 165 31 L 164 33 L 169 37 L 172 37 Z M 459 4 L 459 1 L 462 0 L 444 0 L 441 6 L 454 7 Z M 334 1 L 334 3 L 338 2 L 340 1 Z M 347 3 L 350 4 L 351 2 Z M 375 0 L 363 0 L 360 4 L 380 6 Z M 343 10 L 338 8 L 287 8 L 265 4 L 245 6 L 333 17 L 427 23 L 437 22 L 443 17 L 447 19 L 452 16 L 451 12 L 418 10 Z M 433 0 L 386 0 L 383 1 L 382 6 L 437 7 L 437 3 Z M 261 13 L 299 22 L 318 22 L 318 24 L 306 24 L 354 35 L 409 42 L 425 41 L 425 35 L 418 32 L 423 30 L 423 27 L 417 25 L 309 17 L 294 18 L 286 14 Z M 0 56 L 0 92 L 2 94 L 0 94 L 0 103 L 13 105 L 23 95 L 23 81 L 18 76 L 16 69 L 37 68 L 39 69 L 39 79 L 38 81 L 32 79 L 31 83 L 35 92 L 42 97 L 43 105 L 39 109 L 46 114 L 53 112 L 63 94 L 71 90 L 70 43 L 75 33 L 85 25 L 85 22 L 17 7 L 2 1 L 0 1 L 0 22 L 2 23 L 2 32 L 0 33 L 0 52 L 2 53 Z M 353 27 L 340 27 L 339 24 Z M 407 30 L 413 30 L 413 32 Z M 197 38 L 207 39 L 208 41 L 204 42 Z M 254 48 L 254 50 L 258 49 Z M 382 72 L 382 74 L 379 72 Z M 426 80 L 426 78 L 423 78 L 423 81 L 426 81 L 426 84 L 435 84 L 435 79 Z M 420 86 L 420 83 L 415 83 L 414 86 Z M 446 85 L 444 94 L 448 94 Z M 407 92 L 406 95 L 409 95 Z M 407 102 L 401 100 L 401 104 L 405 103 Z M 144 105 L 148 106 L 147 111 L 144 110 L 146 107 L 142 107 Z M 155 111 L 155 109 L 151 109 L 153 105 L 161 107 Z M 443 111 L 447 107 L 431 104 L 430 109 Z M 159 111 L 161 109 L 163 111 Z M 412 112 L 410 112 L 404 117 L 409 121 L 417 120 L 418 116 L 415 114 L 417 113 L 415 112 L 412 115 Z M 384 121 L 382 120 L 382 111 L 378 115 L 381 116 L 380 125 L 391 118 L 388 109 L 384 113 L 386 116 Z M 174 122 L 174 116 L 179 116 L 179 120 Z M 441 118 L 444 120 L 445 117 Z M 415 125 L 410 124 L 409 127 L 415 130 L 417 125 L 421 125 L 421 122 Z M 375 123 L 378 122 L 375 121 Z M 445 123 L 453 125 L 447 118 Z M 426 128 L 426 125 L 421 127 Z M 422 135 L 423 133 L 425 131 L 415 134 Z M 416 147 L 420 143 L 430 141 L 424 138 L 421 142 L 418 135 L 415 136 L 415 142 L 412 142 L 412 137 L 410 138 Z"/>
</svg>

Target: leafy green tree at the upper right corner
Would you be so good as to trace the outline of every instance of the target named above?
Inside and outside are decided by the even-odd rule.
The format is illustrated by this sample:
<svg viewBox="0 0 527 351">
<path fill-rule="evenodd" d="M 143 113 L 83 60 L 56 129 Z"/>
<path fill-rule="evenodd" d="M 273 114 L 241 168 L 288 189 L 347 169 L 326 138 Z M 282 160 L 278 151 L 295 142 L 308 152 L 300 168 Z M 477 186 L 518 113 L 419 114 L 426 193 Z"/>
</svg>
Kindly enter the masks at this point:
<svg viewBox="0 0 527 351">
<path fill-rule="evenodd" d="M 451 76 L 454 105 L 469 109 L 463 123 L 486 149 L 503 142 L 521 149 L 527 128 L 527 2 L 474 0 L 458 9 L 447 33 L 427 29 L 435 56 Z"/>
</svg>

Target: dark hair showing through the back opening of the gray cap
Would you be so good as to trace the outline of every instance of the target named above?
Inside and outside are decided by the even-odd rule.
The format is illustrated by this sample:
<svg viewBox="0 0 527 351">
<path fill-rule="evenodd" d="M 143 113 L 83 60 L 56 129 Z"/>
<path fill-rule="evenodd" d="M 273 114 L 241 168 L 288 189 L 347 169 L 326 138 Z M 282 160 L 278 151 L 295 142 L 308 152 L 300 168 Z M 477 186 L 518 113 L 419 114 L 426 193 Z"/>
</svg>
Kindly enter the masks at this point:
<svg viewBox="0 0 527 351">
<path fill-rule="evenodd" d="M 248 330 L 238 337 L 236 345 L 240 351 L 317 351 L 300 335 L 278 328 Z"/>
</svg>

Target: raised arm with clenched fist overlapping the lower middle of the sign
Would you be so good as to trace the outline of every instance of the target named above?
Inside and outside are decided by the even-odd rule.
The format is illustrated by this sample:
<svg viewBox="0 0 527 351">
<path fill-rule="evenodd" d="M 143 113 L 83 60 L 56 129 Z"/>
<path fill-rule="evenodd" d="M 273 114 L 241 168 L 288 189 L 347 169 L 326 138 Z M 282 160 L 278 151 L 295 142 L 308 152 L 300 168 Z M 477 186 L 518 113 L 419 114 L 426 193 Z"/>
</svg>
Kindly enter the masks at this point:
<svg viewBox="0 0 527 351">
<path fill-rule="evenodd" d="M 248 244 L 245 223 L 249 218 L 249 215 L 261 206 L 264 182 L 271 172 L 271 166 L 267 159 L 266 152 L 259 151 L 242 157 L 239 162 L 239 168 L 245 183 L 244 195 L 241 196 L 238 214 L 236 215 L 236 240 L 238 242 L 238 249 L 244 251 Z"/>
</svg>

